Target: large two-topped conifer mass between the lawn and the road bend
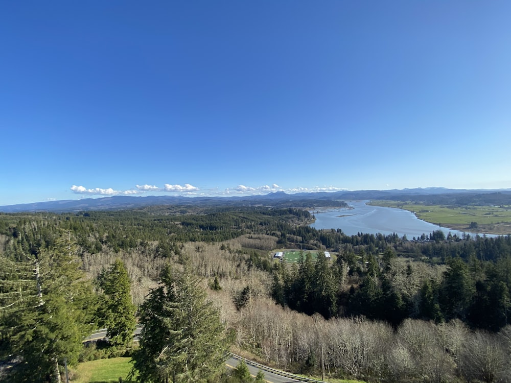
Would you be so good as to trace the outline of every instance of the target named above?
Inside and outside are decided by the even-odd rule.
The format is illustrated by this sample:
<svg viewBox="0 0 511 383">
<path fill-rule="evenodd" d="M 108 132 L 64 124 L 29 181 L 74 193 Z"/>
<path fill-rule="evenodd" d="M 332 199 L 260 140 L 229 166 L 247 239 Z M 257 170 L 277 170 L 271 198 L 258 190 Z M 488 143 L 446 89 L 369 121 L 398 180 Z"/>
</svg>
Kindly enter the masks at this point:
<svg viewBox="0 0 511 383">
<path fill-rule="evenodd" d="M 175 278 L 170 268 L 162 272 L 160 286 L 142 305 L 141 324 L 140 346 L 133 355 L 137 381 L 216 381 L 224 369 L 225 328 L 189 261 Z"/>
</svg>

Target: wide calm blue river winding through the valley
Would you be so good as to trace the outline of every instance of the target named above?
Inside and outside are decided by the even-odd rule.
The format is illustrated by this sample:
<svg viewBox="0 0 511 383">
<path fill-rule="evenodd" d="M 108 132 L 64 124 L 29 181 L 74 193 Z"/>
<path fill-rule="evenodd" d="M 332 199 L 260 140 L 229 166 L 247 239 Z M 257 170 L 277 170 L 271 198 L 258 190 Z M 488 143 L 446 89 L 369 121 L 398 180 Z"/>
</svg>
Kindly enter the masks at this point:
<svg viewBox="0 0 511 383">
<path fill-rule="evenodd" d="M 316 229 L 341 229 L 346 235 L 357 235 L 357 233 L 396 233 L 401 237 L 406 234 L 409 240 L 413 237 L 420 237 L 423 233 L 429 234 L 438 229 L 442 230 L 446 235 L 449 231 L 459 236 L 463 234 L 463 232 L 458 230 L 422 221 L 408 210 L 370 206 L 366 205 L 367 202 L 369 201 L 346 201 L 350 208 L 313 212 L 316 221 L 311 226 Z M 474 233 L 468 234 L 475 235 Z M 493 236 L 491 234 L 487 235 Z"/>
</svg>

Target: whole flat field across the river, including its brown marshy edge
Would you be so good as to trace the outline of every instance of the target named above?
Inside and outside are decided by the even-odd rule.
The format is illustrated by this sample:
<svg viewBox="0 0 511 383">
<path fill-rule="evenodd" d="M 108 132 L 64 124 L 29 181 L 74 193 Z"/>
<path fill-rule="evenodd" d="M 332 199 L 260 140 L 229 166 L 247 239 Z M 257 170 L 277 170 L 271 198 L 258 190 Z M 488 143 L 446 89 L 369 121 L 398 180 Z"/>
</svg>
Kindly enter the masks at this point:
<svg viewBox="0 0 511 383">
<path fill-rule="evenodd" d="M 421 220 L 460 231 L 489 234 L 511 233 L 511 206 L 451 207 L 403 201 L 371 201 L 370 204 L 409 210 Z M 469 230 L 471 222 L 476 222 L 478 228 Z"/>
</svg>

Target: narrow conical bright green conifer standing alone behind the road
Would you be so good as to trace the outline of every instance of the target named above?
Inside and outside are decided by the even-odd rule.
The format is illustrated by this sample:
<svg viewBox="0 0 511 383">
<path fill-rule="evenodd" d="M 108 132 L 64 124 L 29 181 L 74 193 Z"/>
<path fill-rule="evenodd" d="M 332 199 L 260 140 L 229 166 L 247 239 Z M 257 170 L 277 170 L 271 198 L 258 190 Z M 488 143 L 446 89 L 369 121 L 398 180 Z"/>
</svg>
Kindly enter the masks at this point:
<svg viewBox="0 0 511 383">
<path fill-rule="evenodd" d="M 133 341 L 136 307 L 131 299 L 131 284 L 121 259 L 116 259 L 110 269 L 101 275 L 100 286 L 105 292 L 99 309 L 107 328 L 110 344 L 126 348 Z"/>
</svg>

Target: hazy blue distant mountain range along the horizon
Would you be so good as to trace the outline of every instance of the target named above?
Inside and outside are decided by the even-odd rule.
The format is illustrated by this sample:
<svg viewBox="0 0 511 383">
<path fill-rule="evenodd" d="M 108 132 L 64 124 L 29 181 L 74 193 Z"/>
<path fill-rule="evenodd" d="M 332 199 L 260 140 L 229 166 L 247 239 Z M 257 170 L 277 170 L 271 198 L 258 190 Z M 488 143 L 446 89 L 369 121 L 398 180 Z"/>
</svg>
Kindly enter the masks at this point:
<svg viewBox="0 0 511 383">
<path fill-rule="evenodd" d="M 296 194 L 276 192 L 264 196 L 243 197 L 112 196 L 0 206 L 0 212 L 124 210 L 154 205 L 318 207 L 343 206 L 343 200 L 403 200 L 449 205 L 509 205 L 511 204 L 511 189 L 427 187 Z"/>
</svg>

